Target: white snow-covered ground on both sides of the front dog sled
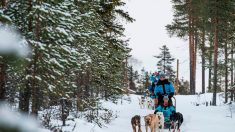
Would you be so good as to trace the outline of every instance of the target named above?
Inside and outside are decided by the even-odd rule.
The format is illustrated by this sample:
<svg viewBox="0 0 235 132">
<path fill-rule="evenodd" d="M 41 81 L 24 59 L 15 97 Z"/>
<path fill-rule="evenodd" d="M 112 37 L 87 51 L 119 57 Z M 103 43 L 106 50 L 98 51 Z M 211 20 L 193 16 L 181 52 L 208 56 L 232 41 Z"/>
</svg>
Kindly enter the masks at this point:
<svg viewBox="0 0 235 132">
<path fill-rule="evenodd" d="M 117 119 L 106 125 L 104 128 L 99 128 L 94 124 L 87 123 L 83 120 L 76 120 L 74 132 L 131 132 L 132 127 L 130 120 L 134 115 L 145 116 L 153 113 L 153 110 L 140 109 L 138 98 L 140 96 L 130 95 L 131 102 L 124 101 L 121 105 L 112 103 L 104 103 L 106 107 L 117 111 L 119 116 Z M 194 96 L 177 95 L 177 112 L 184 115 L 184 123 L 181 132 L 232 132 L 235 131 L 235 115 L 230 117 L 229 105 L 223 105 L 222 97 L 218 96 L 218 106 L 202 105 L 205 101 L 210 101 L 212 94 Z M 199 106 L 195 102 L 200 102 Z M 232 105 L 233 114 L 235 114 L 235 105 Z M 142 131 L 144 129 L 144 121 L 141 119 Z"/>
</svg>

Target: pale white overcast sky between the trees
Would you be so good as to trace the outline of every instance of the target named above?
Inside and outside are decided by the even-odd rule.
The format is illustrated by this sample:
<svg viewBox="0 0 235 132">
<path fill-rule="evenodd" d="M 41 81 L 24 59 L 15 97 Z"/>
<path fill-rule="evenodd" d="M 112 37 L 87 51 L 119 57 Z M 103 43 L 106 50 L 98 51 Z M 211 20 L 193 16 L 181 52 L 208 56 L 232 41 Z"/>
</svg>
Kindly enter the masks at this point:
<svg viewBox="0 0 235 132">
<path fill-rule="evenodd" d="M 126 25 L 125 34 L 130 38 L 131 55 L 142 62 L 136 70 L 144 67 L 148 71 L 157 70 L 159 48 L 167 45 L 172 56 L 179 59 L 179 77 L 189 80 L 188 41 L 167 34 L 165 26 L 171 24 L 173 9 L 171 0 L 126 0 L 125 10 L 136 21 Z M 198 57 L 198 59 L 200 59 Z M 175 61 L 176 62 L 176 61 Z M 200 60 L 199 60 L 200 62 Z M 176 63 L 174 64 L 176 69 Z M 201 91 L 201 65 L 197 65 L 197 91 Z M 207 83 L 206 83 L 207 84 Z"/>
</svg>

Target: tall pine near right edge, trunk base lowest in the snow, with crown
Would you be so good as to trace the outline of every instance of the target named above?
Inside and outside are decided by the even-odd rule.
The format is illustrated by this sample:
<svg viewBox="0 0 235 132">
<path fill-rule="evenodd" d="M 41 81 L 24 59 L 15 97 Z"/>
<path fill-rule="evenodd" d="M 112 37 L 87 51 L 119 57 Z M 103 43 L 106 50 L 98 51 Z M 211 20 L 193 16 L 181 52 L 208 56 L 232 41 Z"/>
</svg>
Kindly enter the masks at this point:
<svg viewBox="0 0 235 132">
<path fill-rule="evenodd" d="M 211 23 L 212 23 L 213 32 L 214 32 L 214 67 L 213 67 L 214 68 L 214 80 L 213 80 L 214 84 L 213 84 L 213 102 L 212 102 L 213 105 L 216 105 L 216 93 L 217 93 L 217 87 L 218 87 L 217 67 L 218 67 L 218 59 L 219 59 L 218 58 L 219 49 L 222 44 L 226 45 L 227 43 L 226 38 L 228 35 L 228 30 L 225 31 L 224 29 L 226 29 L 225 26 L 227 26 L 228 22 L 232 22 L 231 18 L 233 18 L 233 16 L 231 16 L 231 12 L 233 12 L 234 10 L 234 7 L 232 6 L 233 4 L 234 4 L 234 1 L 224 2 L 220 0 L 215 0 L 215 1 L 208 2 L 208 8 L 211 10 L 209 14 L 212 20 Z M 227 72 L 225 74 L 227 74 Z M 225 82 L 225 83 L 228 83 L 228 82 Z M 225 85 L 226 85 L 225 92 L 227 93 L 227 84 Z"/>
</svg>

